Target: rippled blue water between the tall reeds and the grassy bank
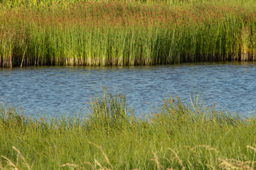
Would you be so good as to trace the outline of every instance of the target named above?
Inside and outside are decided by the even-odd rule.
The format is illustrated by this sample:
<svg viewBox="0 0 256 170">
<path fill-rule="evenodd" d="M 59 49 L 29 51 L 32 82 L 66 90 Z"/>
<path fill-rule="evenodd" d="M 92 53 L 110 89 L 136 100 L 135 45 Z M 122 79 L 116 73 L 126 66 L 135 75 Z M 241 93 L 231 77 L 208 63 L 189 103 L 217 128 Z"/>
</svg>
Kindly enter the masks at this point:
<svg viewBox="0 0 256 170">
<path fill-rule="evenodd" d="M 126 94 L 137 115 L 161 106 L 164 98 L 189 101 L 203 92 L 205 103 L 256 115 L 256 64 L 181 64 L 154 67 L 26 67 L 0 69 L 0 103 L 24 113 L 67 115 L 87 108 L 102 86 Z"/>
</svg>

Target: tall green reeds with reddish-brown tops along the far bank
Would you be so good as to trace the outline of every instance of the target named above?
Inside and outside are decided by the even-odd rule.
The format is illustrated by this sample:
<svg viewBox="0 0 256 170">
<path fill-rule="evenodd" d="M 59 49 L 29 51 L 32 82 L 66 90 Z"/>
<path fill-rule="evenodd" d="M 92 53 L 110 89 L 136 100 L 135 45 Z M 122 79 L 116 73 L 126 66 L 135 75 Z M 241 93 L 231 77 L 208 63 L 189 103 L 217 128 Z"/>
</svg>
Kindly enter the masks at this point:
<svg viewBox="0 0 256 170">
<path fill-rule="evenodd" d="M 255 60 L 252 1 L 7 2 L 0 10 L 0 67 Z"/>
</svg>

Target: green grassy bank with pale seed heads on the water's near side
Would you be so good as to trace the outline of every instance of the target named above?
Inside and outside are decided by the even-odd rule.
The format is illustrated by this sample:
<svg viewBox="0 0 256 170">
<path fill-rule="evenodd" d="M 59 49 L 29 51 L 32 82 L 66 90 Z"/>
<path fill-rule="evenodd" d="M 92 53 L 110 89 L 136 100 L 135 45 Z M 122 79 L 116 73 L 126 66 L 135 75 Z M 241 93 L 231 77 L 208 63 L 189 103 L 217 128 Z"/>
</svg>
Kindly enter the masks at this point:
<svg viewBox="0 0 256 170">
<path fill-rule="evenodd" d="M 139 118 L 107 91 L 87 118 L 23 116 L 1 108 L 0 169 L 255 169 L 255 118 L 164 100 Z"/>
</svg>

